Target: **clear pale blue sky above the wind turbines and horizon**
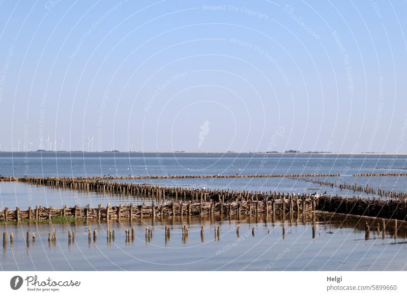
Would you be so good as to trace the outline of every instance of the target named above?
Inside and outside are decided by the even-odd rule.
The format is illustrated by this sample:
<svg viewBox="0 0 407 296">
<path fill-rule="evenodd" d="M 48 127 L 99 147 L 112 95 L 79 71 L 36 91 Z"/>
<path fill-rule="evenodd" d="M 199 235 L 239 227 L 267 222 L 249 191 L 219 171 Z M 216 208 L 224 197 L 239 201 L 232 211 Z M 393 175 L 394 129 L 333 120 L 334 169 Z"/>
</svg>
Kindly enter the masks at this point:
<svg viewBox="0 0 407 296">
<path fill-rule="evenodd" d="M 406 12 L 0 1 L 0 150 L 407 152 Z"/>
</svg>

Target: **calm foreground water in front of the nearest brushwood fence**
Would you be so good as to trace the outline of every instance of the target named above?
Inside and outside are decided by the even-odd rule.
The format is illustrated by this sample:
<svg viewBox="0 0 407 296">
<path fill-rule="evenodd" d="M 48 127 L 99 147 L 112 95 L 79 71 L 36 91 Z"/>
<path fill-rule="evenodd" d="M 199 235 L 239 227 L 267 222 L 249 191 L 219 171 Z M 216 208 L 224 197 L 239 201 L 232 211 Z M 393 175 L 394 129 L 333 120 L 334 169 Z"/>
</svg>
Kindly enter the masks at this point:
<svg viewBox="0 0 407 296">
<path fill-rule="evenodd" d="M 385 236 L 375 231 L 365 236 L 365 221 L 341 217 L 316 217 L 316 236 L 312 238 L 311 217 L 285 219 L 275 216 L 234 217 L 211 221 L 204 217 L 169 218 L 161 221 L 122 220 L 98 224 L 5 225 L 2 231 L 14 232 L 14 243 L 0 253 L 2 270 L 407 270 L 405 225 L 397 238 L 393 225 Z M 186 241 L 182 225 L 189 226 Z M 282 235 L 284 224 L 285 234 Z M 164 225 L 171 229 L 165 240 Z M 203 241 L 200 228 L 204 227 Z M 219 225 L 219 241 L 214 227 Z M 237 237 L 236 228 L 240 227 Z M 96 228 L 96 242 L 88 241 L 88 227 Z M 106 229 L 114 229 L 115 240 L 106 239 Z M 124 228 L 135 228 L 134 241 L 126 242 Z M 146 242 L 146 227 L 153 235 Z M 252 229 L 254 227 L 254 235 Z M 48 243 L 49 229 L 56 229 L 56 243 Z M 68 244 L 68 230 L 76 230 L 76 240 Z M 26 231 L 37 238 L 26 246 Z M 397 243 L 397 244 L 395 244 Z"/>
</svg>

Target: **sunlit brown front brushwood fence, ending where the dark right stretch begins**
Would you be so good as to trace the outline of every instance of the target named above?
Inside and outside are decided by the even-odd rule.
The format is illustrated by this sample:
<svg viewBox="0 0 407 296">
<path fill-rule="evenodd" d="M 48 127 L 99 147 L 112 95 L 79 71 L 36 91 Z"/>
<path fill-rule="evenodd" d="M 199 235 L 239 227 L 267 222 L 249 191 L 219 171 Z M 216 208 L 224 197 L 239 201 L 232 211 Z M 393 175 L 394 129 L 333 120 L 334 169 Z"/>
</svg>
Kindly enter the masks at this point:
<svg viewBox="0 0 407 296">
<path fill-rule="evenodd" d="M 243 200 L 243 201 L 167 201 L 161 204 L 156 204 L 154 201 L 151 204 L 107 204 L 103 207 L 102 204 L 98 208 L 91 208 L 88 204 L 85 207 L 67 205 L 62 208 L 54 208 L 52 206 L 39 206 L 35 209 L 28 207 L 27 210 L 16 208 L 10 210 L 5 208 L 0 210 L 0 222 L 10 221 L 40 221 L 49 220 L 56 217 L 97 220 L 121 220 L 135 218 L 143 219 L 144 217 L 171 217 L 171 216 L 205 216 L 205 215 L 269 215 L 274 213 L 285 212 L 309 212 L 316 209 L 318 198 L 308 195 L 290 195 L 289 197 L 271 198 L 270 200 Z"/>
</svg>

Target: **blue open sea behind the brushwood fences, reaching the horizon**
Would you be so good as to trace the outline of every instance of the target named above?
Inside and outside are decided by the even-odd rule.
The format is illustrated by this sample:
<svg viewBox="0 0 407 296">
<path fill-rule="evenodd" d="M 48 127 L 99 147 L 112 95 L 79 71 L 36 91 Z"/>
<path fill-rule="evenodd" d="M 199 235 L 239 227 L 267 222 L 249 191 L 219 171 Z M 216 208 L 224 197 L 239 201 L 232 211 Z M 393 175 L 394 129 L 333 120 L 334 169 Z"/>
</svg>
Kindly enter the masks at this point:
<svg viewBox="0 0 407 296">
<path fill-rule="evenodd" d="M 353 173 L 407 172 L 405 155 L 260 155 L 190 153 L 0 153 L 0 174 L 37 176 L 175 175 L 175 174 L 292 174 L 340 173 L 315 180 L 369 184 L 377 190 L 405 192 L 407 176 L 354 177 Z M 280 192 L 325 192 L 342 196 L 370 196 L 322 186 L 298 178 L 227 178 L 130 180 L 165 186 L 230 188 Z"/>
</svg>

